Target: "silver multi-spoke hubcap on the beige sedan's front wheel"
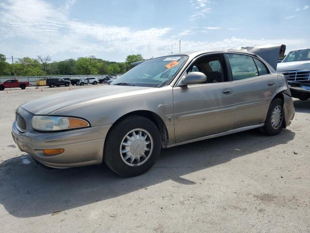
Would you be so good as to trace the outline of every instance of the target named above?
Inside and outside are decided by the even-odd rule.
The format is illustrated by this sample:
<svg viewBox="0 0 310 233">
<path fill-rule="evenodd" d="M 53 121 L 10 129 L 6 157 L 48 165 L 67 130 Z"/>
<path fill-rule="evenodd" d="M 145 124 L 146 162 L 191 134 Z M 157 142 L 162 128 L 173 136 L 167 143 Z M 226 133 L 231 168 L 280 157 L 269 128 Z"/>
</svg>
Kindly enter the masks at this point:
<svg viewBox="0 0 310 233">
<path fill-rule="evenodd" d="M 140 166 L 151 156 L 153 138 L 144 129 L 134 129 L 126 133 L 120 146 L 121 158 L 129 166 Z"/>
</svg>

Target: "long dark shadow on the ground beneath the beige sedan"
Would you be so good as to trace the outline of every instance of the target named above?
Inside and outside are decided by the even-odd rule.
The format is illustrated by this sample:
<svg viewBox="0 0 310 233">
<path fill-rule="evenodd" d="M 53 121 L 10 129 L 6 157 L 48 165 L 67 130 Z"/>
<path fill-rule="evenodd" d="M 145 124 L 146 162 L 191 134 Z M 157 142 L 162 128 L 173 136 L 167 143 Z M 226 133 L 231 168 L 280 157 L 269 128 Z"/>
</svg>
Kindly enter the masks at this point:
<svg viewBox="0 0 310 233">
<path fill-rule="evenodd" d="M 33 217 L 109 200 L 167 180 L 192 185 L 194 181 L 182 176 L 286 144 L 294 135 L 288 129 L 272 137 L 252 130 L 165 149 L 151 170 L 134 178 L 122 178 L 104 165 L 47 170 L 30 155 L 18 156 L 0 164 L 0 203 L 13 216 Z"/>
</svg>

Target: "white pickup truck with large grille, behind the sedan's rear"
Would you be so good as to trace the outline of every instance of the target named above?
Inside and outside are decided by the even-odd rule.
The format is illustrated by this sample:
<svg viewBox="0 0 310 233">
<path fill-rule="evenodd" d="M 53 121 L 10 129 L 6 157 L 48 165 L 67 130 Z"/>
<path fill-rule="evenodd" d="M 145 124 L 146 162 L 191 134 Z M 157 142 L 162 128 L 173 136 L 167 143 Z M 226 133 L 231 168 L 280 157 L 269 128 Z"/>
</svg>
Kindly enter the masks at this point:
<svg viewBox="0 0 310 233">
<path fill-rule="evenodd" d="M 293 97 L 310 98 L 310 48 L 290 51 L 278 64 L 277 72 L 286 77 Z"/>
</svg>

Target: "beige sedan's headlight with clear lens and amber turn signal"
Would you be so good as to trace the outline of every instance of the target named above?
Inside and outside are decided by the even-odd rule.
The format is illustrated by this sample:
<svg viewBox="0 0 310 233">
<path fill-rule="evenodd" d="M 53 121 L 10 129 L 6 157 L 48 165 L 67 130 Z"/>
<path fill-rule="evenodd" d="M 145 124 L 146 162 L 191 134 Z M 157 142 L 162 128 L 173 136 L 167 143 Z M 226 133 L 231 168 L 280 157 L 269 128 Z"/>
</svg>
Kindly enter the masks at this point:
<svg viewBox="0 0 310 233">
<path fill-rule="evenodd" d="M 38 131 L 60 131 L 90 126 L 86 120 L 66 116 L 33 116 L 31 125 Z"/>
</svg>

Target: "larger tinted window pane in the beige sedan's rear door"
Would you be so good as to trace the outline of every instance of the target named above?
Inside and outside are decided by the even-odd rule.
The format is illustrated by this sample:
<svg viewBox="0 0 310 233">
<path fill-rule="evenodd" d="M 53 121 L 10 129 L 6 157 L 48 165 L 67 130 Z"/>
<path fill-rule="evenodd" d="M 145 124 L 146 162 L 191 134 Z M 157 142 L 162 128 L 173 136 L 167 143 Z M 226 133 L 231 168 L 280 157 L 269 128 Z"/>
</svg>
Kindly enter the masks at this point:
<svg viewBox="0 0 310 233">
<path fill-rule="evenodd" d="M 243 54 L 227 54 L 231 64 L 233 80 L 243 80 L 258 76 L 252 57 Z"/>
</svg>

